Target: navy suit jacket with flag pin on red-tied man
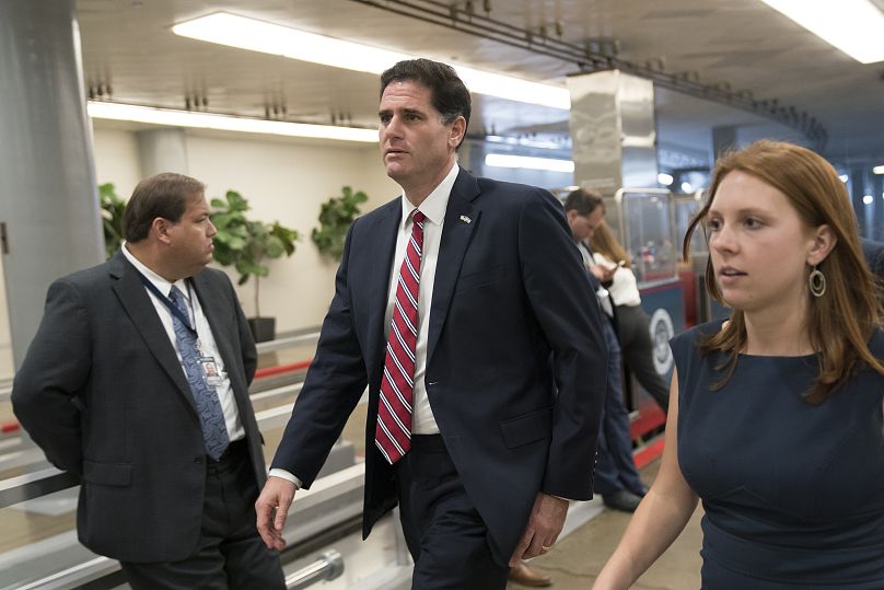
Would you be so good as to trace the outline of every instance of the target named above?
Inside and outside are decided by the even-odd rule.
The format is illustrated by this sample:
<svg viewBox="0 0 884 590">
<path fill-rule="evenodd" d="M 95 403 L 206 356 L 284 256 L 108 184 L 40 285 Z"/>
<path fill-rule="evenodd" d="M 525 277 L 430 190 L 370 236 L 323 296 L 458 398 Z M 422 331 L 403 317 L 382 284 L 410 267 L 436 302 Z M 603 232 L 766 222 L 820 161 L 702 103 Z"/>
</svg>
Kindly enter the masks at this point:
<svg viewBox="0 0 884 590">
<path fill-rule="evenodd" d="M 396 198 L 350 228 L 316 356 L 271 465 L 310 487 L 368 384 L 363 535 L 396 502 L 394 471 L 374 430 L 400 221 Z M 558 200 L 462 170 L 445 212 L 429 322 L 430 406 L 505 562 L 537 491 L 592 497 L 607 350 Z"/>
</svg>

